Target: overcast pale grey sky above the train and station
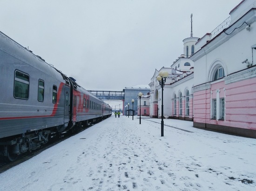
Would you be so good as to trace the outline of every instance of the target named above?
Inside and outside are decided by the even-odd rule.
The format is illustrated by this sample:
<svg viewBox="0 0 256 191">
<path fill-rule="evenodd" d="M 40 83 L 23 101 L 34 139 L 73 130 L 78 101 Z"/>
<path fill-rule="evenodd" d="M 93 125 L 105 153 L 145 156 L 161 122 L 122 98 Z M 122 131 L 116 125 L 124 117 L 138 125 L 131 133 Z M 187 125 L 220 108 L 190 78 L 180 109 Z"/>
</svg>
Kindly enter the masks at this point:
<svg viewBox="0 0 256 191">
<path fill-rule="evenodd" d="M 86 89 L 149 84 L 241 0 L 0 0 L 0 31 Z"/>
</svg>

